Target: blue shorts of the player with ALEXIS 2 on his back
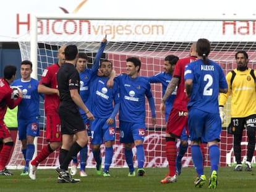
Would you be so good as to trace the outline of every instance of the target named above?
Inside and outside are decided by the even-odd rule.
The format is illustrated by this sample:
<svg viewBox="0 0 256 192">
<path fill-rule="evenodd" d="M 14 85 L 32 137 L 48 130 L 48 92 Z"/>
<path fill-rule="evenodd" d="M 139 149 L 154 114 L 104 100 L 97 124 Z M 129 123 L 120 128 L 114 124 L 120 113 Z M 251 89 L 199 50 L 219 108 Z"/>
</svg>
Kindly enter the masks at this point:
<svg viewBox="0 0 256 192">
<path fill-rule="evenodd" d="M 210 114 L 195 108 L 189 109 L 189 134 L 191 141 L 201 140 L 202 143 L 220 141 L 220 115 Z"/>
</svg>

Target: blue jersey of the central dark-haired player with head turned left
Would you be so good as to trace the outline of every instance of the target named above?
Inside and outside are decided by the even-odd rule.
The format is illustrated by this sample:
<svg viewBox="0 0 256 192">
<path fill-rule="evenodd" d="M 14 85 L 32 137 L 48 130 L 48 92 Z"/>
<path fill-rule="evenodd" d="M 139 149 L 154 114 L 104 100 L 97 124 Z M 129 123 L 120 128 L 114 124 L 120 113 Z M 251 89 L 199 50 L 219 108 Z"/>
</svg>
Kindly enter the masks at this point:
<svg viewBox="0 0 256 192">
<path fill-rule="evenodd" d="M 148 101 L 153 99 L 149 81 L 143 77 L 130 78 L 129 75 L 119 75 L 116 79 L 120 88 L 119 120 L 145 123 L 145 95 Z M 154 102 L 150 108 L 152 117 L 155 117 Z"/>
</svg>

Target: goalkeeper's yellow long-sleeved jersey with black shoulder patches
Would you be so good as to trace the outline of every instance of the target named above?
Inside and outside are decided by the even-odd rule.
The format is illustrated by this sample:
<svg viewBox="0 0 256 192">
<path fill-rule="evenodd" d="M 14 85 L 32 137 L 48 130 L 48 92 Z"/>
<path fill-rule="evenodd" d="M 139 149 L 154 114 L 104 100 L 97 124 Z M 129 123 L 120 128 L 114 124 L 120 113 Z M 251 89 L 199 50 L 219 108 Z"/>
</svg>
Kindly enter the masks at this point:
<svg viewBox="0 0 256 192">
<path fill-rule="evenodd" d="M 226 80 L 228 83 L 228 93 L 220 93 L 219 105 L 224 106 L 231 96 L 231 117 L 247 117 L 256 114 L 256 71 L 251 75 L 252 69 L 247 69 L 243 72 L 234 69 L 233 72 L 228 72 Z M 233 76 L 233 77 L 232 77 Z M 233 78 L 231 82 L 231 78 Z M 232 83 L 232 85 L 231 85 Z"/>
</svg>

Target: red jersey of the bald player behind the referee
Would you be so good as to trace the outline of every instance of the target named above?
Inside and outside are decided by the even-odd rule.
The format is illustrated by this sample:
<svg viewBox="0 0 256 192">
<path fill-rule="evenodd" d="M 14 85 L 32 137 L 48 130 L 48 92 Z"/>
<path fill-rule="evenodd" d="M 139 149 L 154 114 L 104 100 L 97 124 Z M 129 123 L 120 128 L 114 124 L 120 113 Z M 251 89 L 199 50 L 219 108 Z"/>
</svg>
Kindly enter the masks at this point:
<svg viewBox="0 0 256 192">
<path fill-rule="evenodd" d="M 57 89 L 58 88 L 58 83 L 57 83 L 58 70 L 59 70 L 58 64 L 53 64 L 47 67 L 47 69 L 43 71 L 39 84 L 48 86 L 49 88 Z M 45 94 L 45 113 L 58 114 L 58 107 L 59 107 L 58 94 Z"/>
</svg>

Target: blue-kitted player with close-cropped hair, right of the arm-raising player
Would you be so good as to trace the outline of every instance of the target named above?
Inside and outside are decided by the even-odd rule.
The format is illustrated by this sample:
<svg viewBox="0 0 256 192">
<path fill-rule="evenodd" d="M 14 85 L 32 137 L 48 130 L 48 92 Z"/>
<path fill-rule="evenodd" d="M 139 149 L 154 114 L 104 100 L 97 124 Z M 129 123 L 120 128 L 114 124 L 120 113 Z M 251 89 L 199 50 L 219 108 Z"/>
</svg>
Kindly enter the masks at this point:
<svg viewBox="0 0 256 192">
<path fill-rule="evenodd" d="M 109 177 L 109 167 L 113 157 L 113 141 L 116 138 L 115 117 L 119 110 L 119 87 L 114 81 L 113 88 L 108 88 L 108 80 L 113 71 L 111 61 L 101 61 L 100 70 L 103 76 L 95 76 L 90 82 L 90 104 L 95 120 L 91 123 L 93 157 L 97 173 L 101 173 L 100 145 L 105 144 L 104 177 Z M 114 102 L 114 106 L 113 106 Z"/>
</svg>

